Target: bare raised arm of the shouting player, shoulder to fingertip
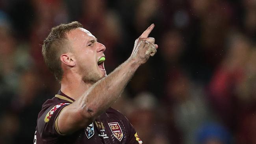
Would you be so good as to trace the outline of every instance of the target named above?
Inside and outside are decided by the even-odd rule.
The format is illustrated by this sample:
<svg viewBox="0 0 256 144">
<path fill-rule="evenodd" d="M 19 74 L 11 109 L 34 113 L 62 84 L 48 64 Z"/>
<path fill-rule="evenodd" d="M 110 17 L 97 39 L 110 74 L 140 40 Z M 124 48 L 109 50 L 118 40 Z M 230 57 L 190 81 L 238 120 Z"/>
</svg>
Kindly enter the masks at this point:
<svg viewBox="0 0 256 144">
<path fill-rule="evenodd" d="M 132 54 L 124 63 L 96 82 L 76 102 L 63 108 L 58 118 L 61 134 L 73 133 L 88 126 L 119 98 L 137 68 L 156 53 L 158 45 L 154 44 L 154 38 L 148 38 L 153 28 L 154 24 L 136 39 Z"/>
</svg>

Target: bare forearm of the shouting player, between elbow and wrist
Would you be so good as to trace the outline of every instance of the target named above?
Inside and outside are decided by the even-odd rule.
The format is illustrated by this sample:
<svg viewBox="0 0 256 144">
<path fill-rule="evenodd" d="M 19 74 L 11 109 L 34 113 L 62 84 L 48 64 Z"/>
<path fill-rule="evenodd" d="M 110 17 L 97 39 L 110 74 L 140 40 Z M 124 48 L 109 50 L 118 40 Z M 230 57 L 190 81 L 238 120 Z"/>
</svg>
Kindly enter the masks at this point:
<svg viewBox="0 0 256 144">
<path fill-rule="evenodd" d="M 111 74 L 96 82 L 78 101 L 84 116 L 95 118 L 108 109 L 121 95 L 124 87 L 139 67 L 134 59 L 128 59 Z"/>
</svg>

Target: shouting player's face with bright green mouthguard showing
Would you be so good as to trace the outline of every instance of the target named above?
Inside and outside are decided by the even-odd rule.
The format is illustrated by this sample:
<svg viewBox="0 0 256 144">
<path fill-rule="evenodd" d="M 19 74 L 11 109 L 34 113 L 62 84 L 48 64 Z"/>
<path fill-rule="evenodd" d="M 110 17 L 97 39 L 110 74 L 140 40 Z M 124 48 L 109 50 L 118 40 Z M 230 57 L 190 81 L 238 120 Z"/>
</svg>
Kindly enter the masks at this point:
<svg viewBox="0 0 256 144">
<path fill-rule="evenodd" d="M 104 78 L 106 70 L 103 63 L 98 63 L 106 47 L 97 42 L 97 39 L 89 31 L 83 28 L 76 28 L 67 34 L 70 45 L 72 46 L 71 52 L 74 54 L 77 72 L 82 76 L 84 82 L 92 82 Z"/>
</svg>

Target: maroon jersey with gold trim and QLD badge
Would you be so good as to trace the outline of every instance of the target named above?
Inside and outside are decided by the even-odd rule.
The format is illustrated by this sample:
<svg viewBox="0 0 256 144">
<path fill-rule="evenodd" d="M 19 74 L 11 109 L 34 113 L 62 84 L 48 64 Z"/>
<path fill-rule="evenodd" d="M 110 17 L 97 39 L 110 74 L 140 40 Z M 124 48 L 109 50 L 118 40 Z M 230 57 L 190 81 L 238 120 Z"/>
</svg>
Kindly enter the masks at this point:
<svg viewBox="0 0 256 144">
<path fill-rule="evenodd" d="M 142 144 L 128 119 L 113 108 L 107 109 L 84 129 L 62 135 L 58 129 L 58 116 L 73 102 L 59 91 L 43 104 L 37 118 L 34 144 Z"/>
</svg>

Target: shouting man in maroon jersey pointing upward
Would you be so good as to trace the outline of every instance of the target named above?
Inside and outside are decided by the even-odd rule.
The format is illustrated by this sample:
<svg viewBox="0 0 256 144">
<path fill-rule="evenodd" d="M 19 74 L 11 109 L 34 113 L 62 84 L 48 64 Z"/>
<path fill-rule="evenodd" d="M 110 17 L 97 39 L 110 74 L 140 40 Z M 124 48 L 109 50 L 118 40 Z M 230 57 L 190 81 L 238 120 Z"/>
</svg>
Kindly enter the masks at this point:
<svg viewBox="0 0 256 144">
<path fill-rule="evenodd" d="M 34 144 L 141 144 L 133 126 L 110 106 L 134 72 L 158 48 L 148 38 L 154 24 L 136 39 L 131 56 L 111 74 L 106 47 L 79 22 L 52 28 L 43 43 L 46 65 L 61 83 L 38 115 Z"/>
</svg>

